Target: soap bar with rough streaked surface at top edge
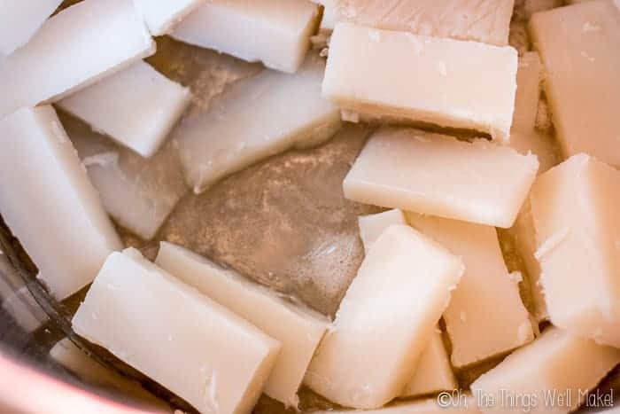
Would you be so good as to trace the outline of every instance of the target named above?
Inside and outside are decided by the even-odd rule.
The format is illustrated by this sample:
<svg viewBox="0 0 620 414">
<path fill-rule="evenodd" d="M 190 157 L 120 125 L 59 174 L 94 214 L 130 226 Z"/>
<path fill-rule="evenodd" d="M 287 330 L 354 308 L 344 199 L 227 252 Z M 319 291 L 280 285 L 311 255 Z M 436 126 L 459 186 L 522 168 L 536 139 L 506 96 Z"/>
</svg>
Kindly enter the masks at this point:
<svg viewBox="0 0 620 414">
<path fill-rule="evenodd" d="M 508 44 L 514 0 L 336 0 L 338 19 L 415 35 Z"/>
</svg>

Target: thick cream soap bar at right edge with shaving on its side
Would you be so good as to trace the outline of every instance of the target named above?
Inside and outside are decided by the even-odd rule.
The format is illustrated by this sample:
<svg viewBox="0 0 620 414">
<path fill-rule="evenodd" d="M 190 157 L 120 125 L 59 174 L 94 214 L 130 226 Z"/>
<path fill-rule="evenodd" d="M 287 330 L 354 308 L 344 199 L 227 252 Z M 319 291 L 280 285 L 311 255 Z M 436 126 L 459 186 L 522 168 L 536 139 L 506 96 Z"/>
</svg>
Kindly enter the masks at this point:
<svg viewBox="0 0 620 414">
<path fill-rule="evenodd" d="M 620 171 L 577 154 L 531 190 L 551 322 L 620 348 Z"/>
</svg>

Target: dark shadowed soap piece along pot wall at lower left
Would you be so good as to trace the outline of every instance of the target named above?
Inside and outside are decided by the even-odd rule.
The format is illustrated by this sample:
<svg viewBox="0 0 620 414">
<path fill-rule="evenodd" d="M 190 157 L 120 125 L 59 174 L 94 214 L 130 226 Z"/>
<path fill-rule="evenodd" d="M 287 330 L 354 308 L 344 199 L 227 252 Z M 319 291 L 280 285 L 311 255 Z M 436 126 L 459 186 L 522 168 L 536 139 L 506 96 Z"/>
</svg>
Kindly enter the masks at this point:
<svg viewBox="0 0 620 414">
<path fill-rule="evenodd" d="M 97 363 L 68 338 L 59 340 L 50 349 L 50 358 L 85 380 L 89 385 L 113 389 L 140 402 L 145 402 L 151 408 L 170 411 L 170 406 L 166 402 L 147 392 L 139 382 Z"/>
</svg>

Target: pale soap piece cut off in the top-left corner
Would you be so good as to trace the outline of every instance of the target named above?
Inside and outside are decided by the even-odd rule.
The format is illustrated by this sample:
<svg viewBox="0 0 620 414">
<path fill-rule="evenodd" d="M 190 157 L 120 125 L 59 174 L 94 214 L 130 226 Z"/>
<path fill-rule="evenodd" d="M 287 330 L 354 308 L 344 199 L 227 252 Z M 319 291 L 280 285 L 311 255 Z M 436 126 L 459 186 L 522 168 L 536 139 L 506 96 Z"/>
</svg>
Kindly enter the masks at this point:
<svg viewBox="0 0 620 414">
<path fill-rule="evenodd" d="M 35 35 L 62 0 L 0 0 L 0 53 L 10 55 Z"/>
</svg>

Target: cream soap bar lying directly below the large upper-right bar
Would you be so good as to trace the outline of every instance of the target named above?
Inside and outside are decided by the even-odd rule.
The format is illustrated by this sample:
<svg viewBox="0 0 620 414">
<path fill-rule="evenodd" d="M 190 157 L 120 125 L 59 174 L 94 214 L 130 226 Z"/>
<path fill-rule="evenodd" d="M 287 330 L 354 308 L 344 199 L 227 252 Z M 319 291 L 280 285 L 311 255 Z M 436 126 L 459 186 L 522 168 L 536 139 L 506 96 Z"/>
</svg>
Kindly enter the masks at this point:
<svg viewBox="0 0 620 414">
<path fill-rule="evenodd" d="M 343 186 L 360 203 L 508 228 L 538 167 L 485 140 L 388 128 L 370 137 Z"/>
</svg>

